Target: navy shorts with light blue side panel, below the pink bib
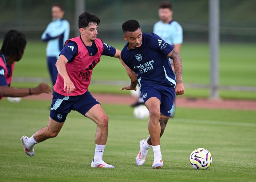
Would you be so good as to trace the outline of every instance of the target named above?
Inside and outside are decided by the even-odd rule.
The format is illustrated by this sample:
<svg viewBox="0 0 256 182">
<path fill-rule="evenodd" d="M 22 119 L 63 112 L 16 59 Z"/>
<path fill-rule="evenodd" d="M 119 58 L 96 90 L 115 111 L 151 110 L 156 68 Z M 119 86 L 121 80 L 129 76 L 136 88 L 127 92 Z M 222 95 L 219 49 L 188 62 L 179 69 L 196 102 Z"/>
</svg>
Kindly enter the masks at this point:
<svg viewBox="0 0 256 182">
<path fill-rule="evenodd" d="M 78 96 L 64 96 L 53 91 L 50 117 L 57 122 L 64 122 L 71 110 L 85 115 L 94 105 L 100 104 L 87 90 Z"/>
</svg>

